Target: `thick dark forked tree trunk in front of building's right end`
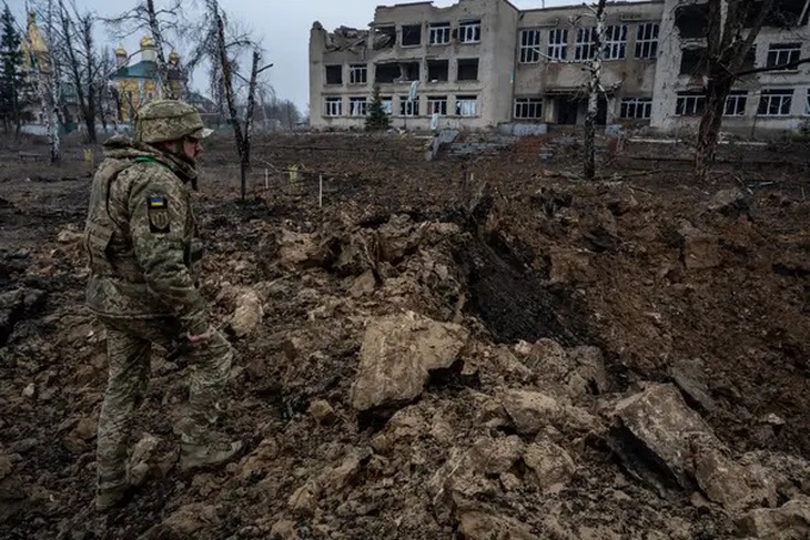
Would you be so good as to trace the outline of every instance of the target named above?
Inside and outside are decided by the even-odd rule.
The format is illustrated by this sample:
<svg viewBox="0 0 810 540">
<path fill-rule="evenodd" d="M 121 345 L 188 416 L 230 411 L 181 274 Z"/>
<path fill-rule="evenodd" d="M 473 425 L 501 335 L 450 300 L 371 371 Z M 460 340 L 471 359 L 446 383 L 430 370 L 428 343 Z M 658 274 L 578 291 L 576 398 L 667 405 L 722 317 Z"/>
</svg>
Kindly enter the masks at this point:
<svg viewBox="0 0 810 540">
<path fill-rule="evenodd" d="M 781 24 L 790 27 L 791 23 L 801 23 L 806 11 L 790 20 L 779 12 L 774 0 L 708 0 L 707 49 L 701 67 L 707 77 L 706 108 L 700 119 L 695 151 L 695 175 L 699 180 L 706 180 L 715 161 L 726 99 L 733 84 L 746 75 L 797 68 L 810 62 L 810 58 L 800 58 L 777 65 L 743 68 L 762 27 L 774 16 Z"/>
</svg>

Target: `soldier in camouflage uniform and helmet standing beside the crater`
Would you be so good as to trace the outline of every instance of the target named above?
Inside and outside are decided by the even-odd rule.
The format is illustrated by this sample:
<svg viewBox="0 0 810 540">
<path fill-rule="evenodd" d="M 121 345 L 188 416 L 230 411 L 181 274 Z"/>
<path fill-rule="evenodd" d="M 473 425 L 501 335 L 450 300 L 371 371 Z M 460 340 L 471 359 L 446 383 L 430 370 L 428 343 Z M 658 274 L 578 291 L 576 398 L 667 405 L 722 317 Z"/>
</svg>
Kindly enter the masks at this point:
<svg viewBox="0 0 810 540">
<path fill-rule="evenodd" d="M 211 326 L 198 288 L 202 244 L 191 207 L 195 157 L 211 134 L 183 102 L 141 109 L 136 140 L 105 144 L 93 177 L 84 245 L 88 306 L 107 328 L 110 374 L 98 432 L 95 506 L 122 505 L 130 493 L 126 460 L 134 411 L 143 400 L 153 343 L 178 339 L 192 368 L 188 411 L 176 430 L 183 470 L 223 463 L 242 442 L 213 431 L 233 349 Z"/>
</svg>

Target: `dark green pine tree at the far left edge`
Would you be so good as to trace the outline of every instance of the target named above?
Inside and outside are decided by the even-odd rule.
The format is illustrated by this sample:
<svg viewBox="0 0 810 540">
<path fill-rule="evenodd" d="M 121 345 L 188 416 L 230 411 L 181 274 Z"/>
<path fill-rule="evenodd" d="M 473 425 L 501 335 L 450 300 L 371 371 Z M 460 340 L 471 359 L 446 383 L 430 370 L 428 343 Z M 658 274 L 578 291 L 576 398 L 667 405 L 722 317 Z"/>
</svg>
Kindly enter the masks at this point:
<svg viewBox="0 0 810 540">
<path fill-rule="evenodd" d="M 11 125 L 19 132 L 27 94 L 26 73 L 22 68 L 22 37 L 8 4 L 0 14 L 0 118 L 7 133 Z"/>
</svg>

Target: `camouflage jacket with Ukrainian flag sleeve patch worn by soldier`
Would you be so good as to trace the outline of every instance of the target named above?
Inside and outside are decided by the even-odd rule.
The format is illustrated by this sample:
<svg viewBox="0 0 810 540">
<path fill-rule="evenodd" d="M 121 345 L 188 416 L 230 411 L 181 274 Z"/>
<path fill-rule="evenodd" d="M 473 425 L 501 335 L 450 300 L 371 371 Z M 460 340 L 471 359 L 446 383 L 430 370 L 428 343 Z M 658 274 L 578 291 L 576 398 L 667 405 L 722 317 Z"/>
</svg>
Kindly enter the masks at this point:
<svg viewBox="0 0 810 540">
<path fill-rule="evenodd" d="M 190 184 L 196 171 L 159 150 L 113 136 L 93 177 L 84 246 L 87 299 L 99 315 L 180 318 L 192 334 L 209 327 L 195 282 L 202 258 Z"/>
</svg>

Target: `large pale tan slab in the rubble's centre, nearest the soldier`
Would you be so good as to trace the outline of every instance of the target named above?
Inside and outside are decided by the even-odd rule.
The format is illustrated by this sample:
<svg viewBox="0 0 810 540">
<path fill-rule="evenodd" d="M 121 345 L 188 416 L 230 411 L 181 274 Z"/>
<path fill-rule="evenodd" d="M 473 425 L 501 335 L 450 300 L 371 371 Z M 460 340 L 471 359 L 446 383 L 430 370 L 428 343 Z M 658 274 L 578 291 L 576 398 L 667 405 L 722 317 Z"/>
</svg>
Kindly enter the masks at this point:
<svg viewBox="0 0 810 540">
<path fill-rule="evenodd" d="M 372 320 L 361 345 L 352 406 L 364 411 L 413 401 L 432 369 L 453 365 L 467 337 L 468 330 L 460 325 L 413 312 Z"/>
</svg>

